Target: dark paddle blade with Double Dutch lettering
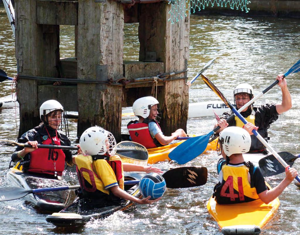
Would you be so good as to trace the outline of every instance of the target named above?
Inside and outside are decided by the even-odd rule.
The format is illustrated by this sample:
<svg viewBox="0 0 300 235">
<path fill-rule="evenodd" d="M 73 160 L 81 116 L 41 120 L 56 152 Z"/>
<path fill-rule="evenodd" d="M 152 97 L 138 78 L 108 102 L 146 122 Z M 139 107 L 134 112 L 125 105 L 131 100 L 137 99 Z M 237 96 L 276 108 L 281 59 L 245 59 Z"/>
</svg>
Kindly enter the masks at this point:
<svg viewBox="0 0 300 235">
<path fill-rule="evenodd" d="M 117 154 L 129 159 L 148 161 L 148 150 L 139 143 L 122 141 L 117 144 Z"/>
</svg>

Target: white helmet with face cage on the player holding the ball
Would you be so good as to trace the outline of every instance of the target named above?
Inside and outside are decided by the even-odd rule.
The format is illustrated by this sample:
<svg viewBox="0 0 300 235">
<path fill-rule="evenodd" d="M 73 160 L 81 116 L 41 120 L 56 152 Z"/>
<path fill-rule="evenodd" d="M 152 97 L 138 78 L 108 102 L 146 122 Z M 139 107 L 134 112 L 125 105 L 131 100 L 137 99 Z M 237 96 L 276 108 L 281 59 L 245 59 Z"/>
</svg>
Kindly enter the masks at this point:
<svg viewBox="0 0 300 235">
<path fill-rule="evenodd" d="M 112 133 L 100 126 L 92 126 L 86 129 L 80 139 L 80 148 L 85 155 L 116 154 L 116 139 Z"/>
</svg>

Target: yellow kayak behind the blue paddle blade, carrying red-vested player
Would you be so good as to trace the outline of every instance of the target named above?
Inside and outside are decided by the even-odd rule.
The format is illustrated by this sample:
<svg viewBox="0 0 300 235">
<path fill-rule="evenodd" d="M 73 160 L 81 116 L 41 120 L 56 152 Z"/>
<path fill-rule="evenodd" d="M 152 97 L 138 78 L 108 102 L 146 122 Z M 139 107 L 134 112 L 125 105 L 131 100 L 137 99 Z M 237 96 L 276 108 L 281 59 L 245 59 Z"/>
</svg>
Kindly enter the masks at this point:
<svg viewBox="0 0 300 235">
<path fill-rule="evenodd" d="M 195 137 L 196 135 L 192 135 Z M 149 148 L 148 149 L 148 163 L 153 164 L 156 162 L 170 161 L 171 159 L 168 157 L 169 153 L 176 148 L 179 144 L 183 143 L 185 140 L 179 141 L 174 144 L 168 144 L 162 147 L 157 148 Z M 208 150 L 216 150 L 218 139 L 215 139 L 207 144 L 205 151 Z M 204 152 L 205 152 L 204 151 Z"/>
</svg>

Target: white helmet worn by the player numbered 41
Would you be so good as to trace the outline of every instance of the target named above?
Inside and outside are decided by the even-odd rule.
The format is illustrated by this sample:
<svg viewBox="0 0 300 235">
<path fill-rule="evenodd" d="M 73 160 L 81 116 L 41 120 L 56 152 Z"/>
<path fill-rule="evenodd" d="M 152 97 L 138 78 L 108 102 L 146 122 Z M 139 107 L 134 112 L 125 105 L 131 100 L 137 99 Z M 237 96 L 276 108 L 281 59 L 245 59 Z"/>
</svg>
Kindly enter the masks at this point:
<svg viewBox="0 0 300 235">
<path fill-rule="evenodd" d="M 229 126 L 220 132 L 217 153 L 221 155 L 223 149 L 226 156 L 235 153 L 247 153 L 250 150 L 251 137 L 249 133 L 241 127 Z"/>
</svg>

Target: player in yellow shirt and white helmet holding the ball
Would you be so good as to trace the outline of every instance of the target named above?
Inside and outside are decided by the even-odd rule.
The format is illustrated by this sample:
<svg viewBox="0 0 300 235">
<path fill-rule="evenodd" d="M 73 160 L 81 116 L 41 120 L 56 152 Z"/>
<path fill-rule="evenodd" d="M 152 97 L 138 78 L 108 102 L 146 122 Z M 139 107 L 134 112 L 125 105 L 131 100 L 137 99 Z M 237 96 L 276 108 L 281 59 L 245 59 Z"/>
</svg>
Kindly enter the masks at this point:
<svg viewBox="0 0 300 235">
<path fill-rule="evenodd" d="M 122 198 L 138 204 L 151 204 L 160 200 L 150 197 L 139 199 L 124 191 L 123 171 L 163 173 L 159 168 L 123 163 L 116 155 L 116 140 L 112 133 L 93 126 L 82 133 L 78 155 L 73 156 L 80 183 L 81 197 L 88 203 L 120 203 Z"/>
</svg>

